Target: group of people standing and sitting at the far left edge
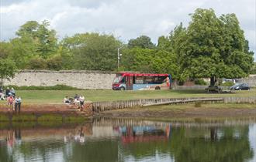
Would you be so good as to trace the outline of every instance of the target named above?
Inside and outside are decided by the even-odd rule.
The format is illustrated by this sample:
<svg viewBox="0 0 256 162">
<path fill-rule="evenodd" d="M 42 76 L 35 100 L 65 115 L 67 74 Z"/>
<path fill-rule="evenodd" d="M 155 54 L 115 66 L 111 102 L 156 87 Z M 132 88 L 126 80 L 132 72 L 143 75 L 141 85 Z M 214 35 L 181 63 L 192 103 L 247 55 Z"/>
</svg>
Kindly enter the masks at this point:
<svg viewBox="0 0 256 162">
<path fill-rule="evenodd" d="M 0 100 L 6 100 L 7 101 L 7 106 L 8 106 L 8 111 L 19 110 L 20 112 L 20 106 L 22 103 L 22 99 L 20 96 L 16 96 L 16 91 L 14 88 L 9 89 L 9 87 L 6 88 L 5 93 L 4 89 L 2 86 L 0 87 Z"/>
</svg>

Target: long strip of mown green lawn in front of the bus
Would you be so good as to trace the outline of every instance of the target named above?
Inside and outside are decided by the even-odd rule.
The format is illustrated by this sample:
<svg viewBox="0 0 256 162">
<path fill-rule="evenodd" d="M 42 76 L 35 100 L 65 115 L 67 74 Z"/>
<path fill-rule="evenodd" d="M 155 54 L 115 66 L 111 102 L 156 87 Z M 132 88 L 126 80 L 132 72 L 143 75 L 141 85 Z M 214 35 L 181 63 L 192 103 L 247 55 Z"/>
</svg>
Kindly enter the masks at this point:
<svg viewBox="0 0 256 162">
<path fill-rule="evenodd" d="M 256 89 L 235 91 L 234 93 L 206 93 L 205 90 L 17 90 L 22 96 L 23 103 L 61 103 L 64 96 L 82 94 L 89 101 L 136 100 L 151 98 L 180 98 L 180 97 L 223 97 L 223 96 L 256 96 Z M 0 101 L 6 103 L 6 101 Z"/>
</svg>

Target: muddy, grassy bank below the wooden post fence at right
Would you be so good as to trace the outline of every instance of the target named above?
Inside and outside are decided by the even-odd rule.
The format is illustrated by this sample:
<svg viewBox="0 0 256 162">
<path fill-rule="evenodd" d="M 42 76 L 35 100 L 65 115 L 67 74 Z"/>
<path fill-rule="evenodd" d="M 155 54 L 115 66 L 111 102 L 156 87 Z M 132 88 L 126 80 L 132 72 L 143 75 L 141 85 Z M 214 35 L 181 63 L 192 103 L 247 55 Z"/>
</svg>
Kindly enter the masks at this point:
<svg viewBox="0 0 256 162">
<path fill-rule="evenodd" d="M 241 108 L 234 107 L 232 105 L 211 105 L 202 107 L 193 106 L 174 106 L 168 107 L 154 107 L 154 108 L 133 108 L 123 110 L 109 110 L 106 112 L 98 113 L 96 116 L 105 117 L 118 117 L 118 118 L 198 118 L 198 117 L 255 117 L 256 106 L 243 105 Z"/>
</svg>

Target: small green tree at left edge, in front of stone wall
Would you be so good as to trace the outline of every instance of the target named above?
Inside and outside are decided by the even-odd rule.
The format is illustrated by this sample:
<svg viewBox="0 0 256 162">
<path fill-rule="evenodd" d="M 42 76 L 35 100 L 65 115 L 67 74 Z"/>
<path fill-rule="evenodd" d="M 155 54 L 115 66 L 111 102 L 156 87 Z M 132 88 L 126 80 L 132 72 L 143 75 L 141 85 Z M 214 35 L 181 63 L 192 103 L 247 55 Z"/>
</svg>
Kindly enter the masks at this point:
<svg viewBox="0 0 256 162">
<path fill-rule="evenodd" d="M 16 74 L 16 65 L 10 59 L 0 59 L 0 78 L 1 86 L 3 84 L 3 79 L 11 79 Z"/>
</svg>

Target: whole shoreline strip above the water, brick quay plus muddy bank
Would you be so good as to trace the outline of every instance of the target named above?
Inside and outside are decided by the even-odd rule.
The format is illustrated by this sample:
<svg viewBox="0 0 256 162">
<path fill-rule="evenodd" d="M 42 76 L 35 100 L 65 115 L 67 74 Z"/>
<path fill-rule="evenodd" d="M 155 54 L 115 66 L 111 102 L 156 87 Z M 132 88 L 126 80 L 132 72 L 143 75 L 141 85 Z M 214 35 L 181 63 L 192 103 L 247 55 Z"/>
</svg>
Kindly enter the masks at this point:
<svg viewBox="0 0 256 162">
<path fill-rule="evenodd" d="M 92 104 L 89 103 L 88 105 Z M 88 107 L 85 106 L 84 110 L 80 111 L 75 106 L 64 103 L 24 104 L 19 114 L 12 110 L 8 111 L 5 104 L 0 104 L 0 121 L 7 121 L 7 119 L 12 121 L 12 116 L 19 116 L 17 119 L 21 121 L 35 120 L 38 116 L 62 116 L 63 118 L 66 118 L 66 116 L 71 116 L 71 118 L 78 116 L 85 119 L 92 117 L 141 118 L 150 120 L 256 116 L 256 106 L 254 103 L 201 103 L 199 106 L 196 103 L 186 103 L 178 105 L 136 106 L 119 110 L 106 110 L 100 113 L 92 112 L 92 109 Z M 50 118 L 53 120 L 54 117 Z M 45 120 L 47 120 L 47 117 Z"/>
</svg>

